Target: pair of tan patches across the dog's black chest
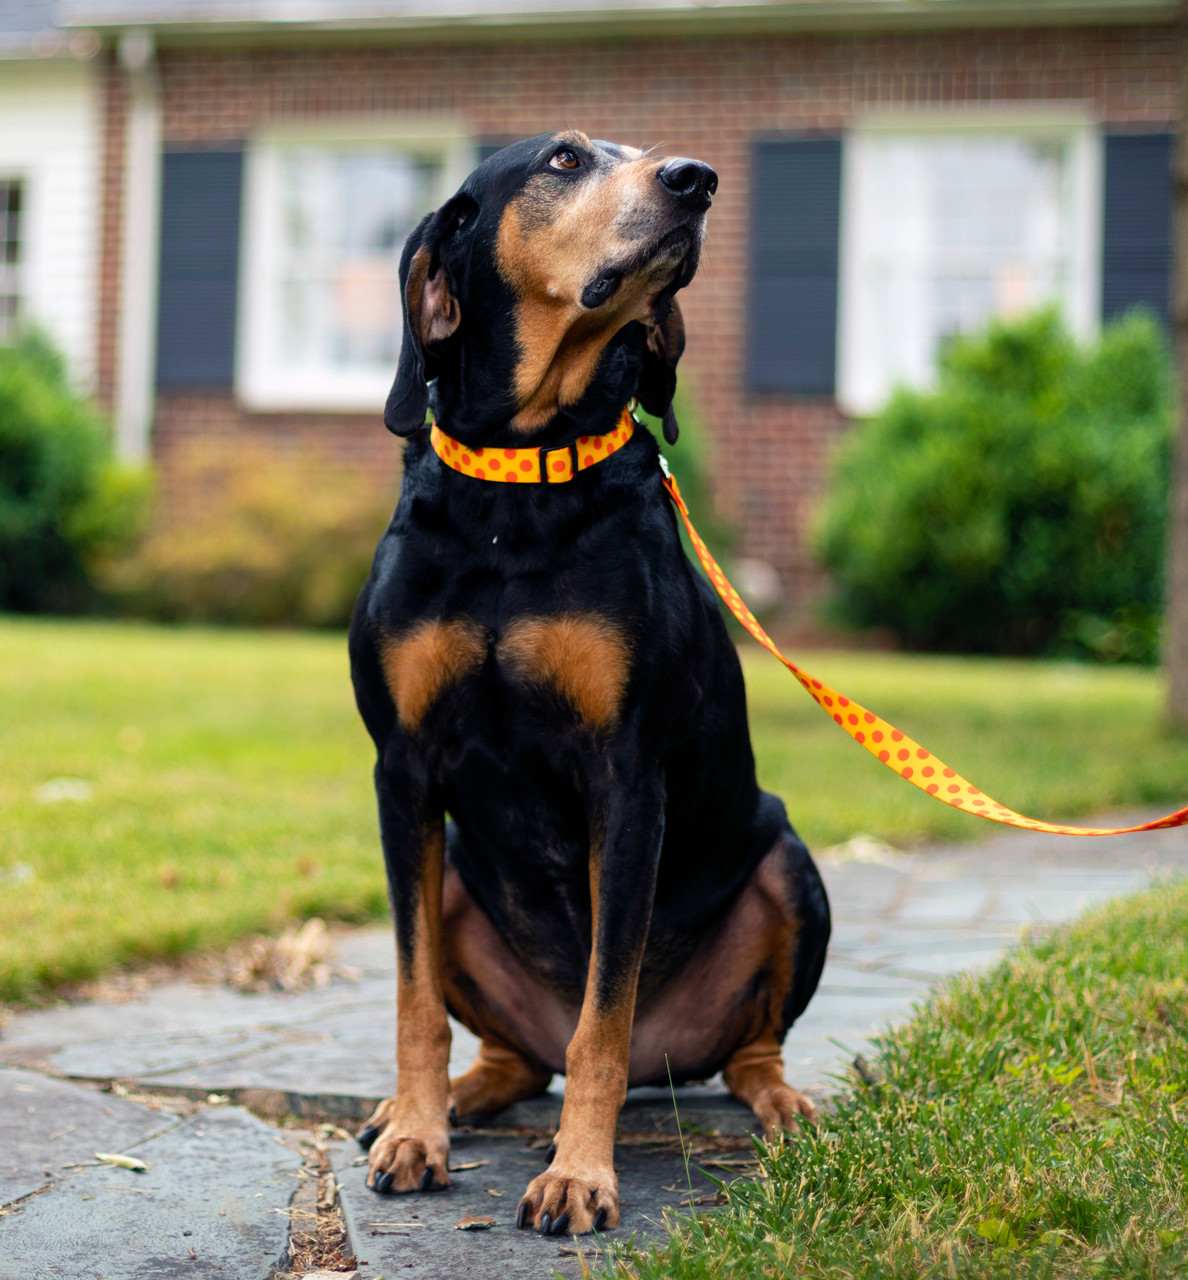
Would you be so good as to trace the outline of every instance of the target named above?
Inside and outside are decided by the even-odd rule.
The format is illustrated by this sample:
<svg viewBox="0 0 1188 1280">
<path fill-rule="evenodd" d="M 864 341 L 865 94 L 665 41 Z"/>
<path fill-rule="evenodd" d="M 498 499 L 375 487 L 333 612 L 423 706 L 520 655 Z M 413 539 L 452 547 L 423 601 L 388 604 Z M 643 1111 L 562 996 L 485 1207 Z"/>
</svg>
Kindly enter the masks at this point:
<svg viewBox="0 0 1188 1280">
<path fill-rule="evenodd" d="M 397 717 L 412 732 L 451 695 L 494 692 L 525 707 L 561 703 L 604 732 L 618 722 L 631 668 L 621 627 L 595 612 L 521 614 L 499 627 L 465 614 L 424 620 L 388 637 L 381 658 Z"/>
</svg>

